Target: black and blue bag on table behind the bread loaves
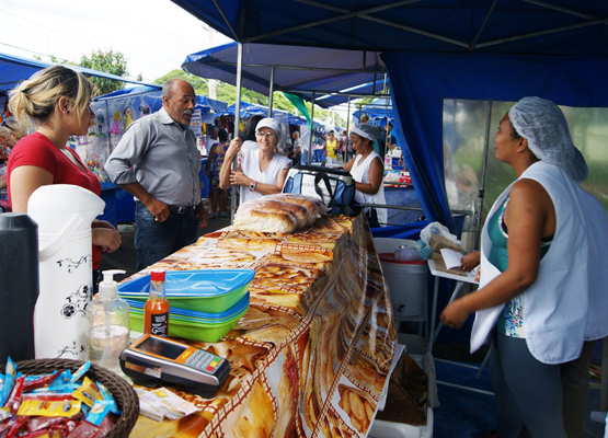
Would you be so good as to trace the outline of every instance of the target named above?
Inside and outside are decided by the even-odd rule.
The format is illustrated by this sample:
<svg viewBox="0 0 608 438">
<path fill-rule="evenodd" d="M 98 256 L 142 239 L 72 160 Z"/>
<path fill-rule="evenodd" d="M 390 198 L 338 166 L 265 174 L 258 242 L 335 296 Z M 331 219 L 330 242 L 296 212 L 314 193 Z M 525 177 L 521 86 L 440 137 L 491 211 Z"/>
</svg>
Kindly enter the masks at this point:
<svg viewBox="0 0 608 438">
<path fill-rule="evenodd" d="M 329 208 L 330 215 L 357 216 L 354 206 L 355 180 L 349 172 L 320 165 L 298 164 L 289 170 L 283 193 L 298 193 L 316 198 Z"/>
</svg>

